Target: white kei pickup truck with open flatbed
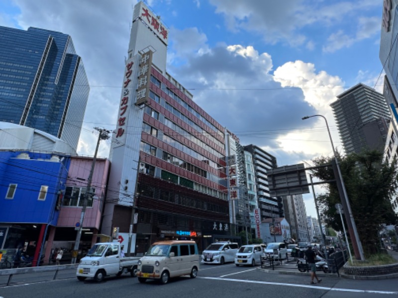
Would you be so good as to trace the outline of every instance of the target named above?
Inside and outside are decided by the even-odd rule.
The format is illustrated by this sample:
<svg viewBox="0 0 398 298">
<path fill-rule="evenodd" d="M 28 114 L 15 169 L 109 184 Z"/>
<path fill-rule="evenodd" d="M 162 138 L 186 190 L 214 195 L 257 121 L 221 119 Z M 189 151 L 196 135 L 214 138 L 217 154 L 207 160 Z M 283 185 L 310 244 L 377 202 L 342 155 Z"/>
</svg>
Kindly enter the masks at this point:
<svg viewBox="0 0 398 298">
<path fill-rule="evenodd" d="M 87 255 L 80 260 L 76 277 L 79 281 L 94 278 L 101 282 L 105 276 L 120 276 L 130 272 L 136 277 L 139 257 L 121 257 L 121 247 L 118 242 L 96 243 Z"/>
</svg>

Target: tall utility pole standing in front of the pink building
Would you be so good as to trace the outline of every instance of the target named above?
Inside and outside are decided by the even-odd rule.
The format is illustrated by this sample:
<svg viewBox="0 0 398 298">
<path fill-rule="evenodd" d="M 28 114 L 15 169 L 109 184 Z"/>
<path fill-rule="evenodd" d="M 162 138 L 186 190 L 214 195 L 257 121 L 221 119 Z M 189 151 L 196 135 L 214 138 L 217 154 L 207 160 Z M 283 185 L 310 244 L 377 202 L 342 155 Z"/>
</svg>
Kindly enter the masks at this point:
<svg viewBox="0 0 398 298">
<path fill-rule="evenodd" d="M 76 264 L 76 259 L 78 257 L 78 253 L 79 253 L 79 244 L 80 244 L 80 238 L 82 237 L 82 228 L 83 228 L 84 216 L 86 214 L 86 209 L 87 209 L 87 200 L 89 197 L 91 198 L 93 196 L 93 193 L 91 192 L 91 181 L 93 180 L 94 166 L 96 165 L 97 153 L 98 153 L 98 148 L 100 147 L 100 141 L 109 139 L 108 134 L 110 133 L 108 130 L 100 129 L 98 127 L 95 127 L 94 129 L 99 131 L 100 134 L 98 135 L 97 147 L 96 147 L 96 151 L 94 153 L 93 162 L 91 164 L 89 178 L 87 178 L 87 188 L 86 188 L 86 193 L 84 194 L 84 198 L 83 198 L 82 214 L 80 215 L 80 222 L 79 222 L 79 226 L 77 227 L 78 230 L 77 230 L 77 234 L 76 234 L 75 246 L 74 246 L 73 252 L 72 252 L 72 264 Z"/>
</svg>

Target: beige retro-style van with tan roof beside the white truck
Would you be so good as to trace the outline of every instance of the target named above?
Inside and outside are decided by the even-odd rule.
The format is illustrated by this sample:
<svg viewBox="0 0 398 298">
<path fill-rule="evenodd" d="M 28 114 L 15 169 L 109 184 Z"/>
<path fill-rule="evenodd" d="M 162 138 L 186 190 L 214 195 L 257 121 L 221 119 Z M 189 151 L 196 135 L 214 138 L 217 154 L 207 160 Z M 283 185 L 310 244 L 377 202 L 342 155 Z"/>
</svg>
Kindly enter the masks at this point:
<svg viewBox="0 0 398 298">
<path fill-rule="evenodd" d="M 167 284 L 172 277 L 190 275 L 196 278 L 199 270 L 199 253 L 195 241 L 160 241 L 151 245 L 139 259 L 137 277 L 140 283 L 157 279 Z"/>
</svg>

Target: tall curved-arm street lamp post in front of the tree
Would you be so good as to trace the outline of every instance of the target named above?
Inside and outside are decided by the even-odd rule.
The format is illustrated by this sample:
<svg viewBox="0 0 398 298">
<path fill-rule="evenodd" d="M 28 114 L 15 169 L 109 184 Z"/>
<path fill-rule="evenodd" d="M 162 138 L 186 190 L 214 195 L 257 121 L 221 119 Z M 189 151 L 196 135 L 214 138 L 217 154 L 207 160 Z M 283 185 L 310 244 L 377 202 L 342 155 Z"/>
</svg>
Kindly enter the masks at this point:
<svg viewBox="0 0 398 298">
<path fill-rule="evenodd" d="M 364 252 L 363 252 L 362 245 L 361 245 L 361 240 L 359 239 L 357 227 L 355 225 L 354 217 L 353 217 L 352 211 L 351 211 L 351 205 L 350 205 L 350 202 L 348 200 L 347 191 L 345 189 L 345 185 L 344 185 L 344 181 L 343 181 L 343 176 L 341 174 L 339 162 L 338 162 L 338 159 L 337 159 L 336 150 L 334 149 L 332 136 L 331 136 L 330 130 L 329 130 L 329 125 L 327 124 L 326 118 L 324 116 L 322 116 L 322 115 L 305 116 L 305 117 L 302 117 L 301 119 L 305 120 L 305 119 L 308 119 L 308 118 L 311 118 L 311 117 L 322 117 L 325 120 L 327 132 L 329 134 L 330 144 L 332 145 L 332 149 L 333 149 L 333 155 L 334 155 L 334 160 L 335 160 L 335 163 L 336 163 L 337 173 L 338 173 L 338 176 L 339 176 L 339 179 L 340 179 L 341 189 L 342 189 L 342 192 L 343 192 L 342 203 L 343 203 L 343 205 L 344 205 L 344 207 L 346 208 L 346 211 L 347 211 L 346 212 L 346 220 L 347 220 L 347 225 L 349 225 L 349 229 L 348 230 L 350 232 L 350 236 L 351 236 L 351 239 L 352 239 L 352 242 L 353 242 L 355 256 L 356 256 L 357 259 L 365 260 Z"/>
</svg>

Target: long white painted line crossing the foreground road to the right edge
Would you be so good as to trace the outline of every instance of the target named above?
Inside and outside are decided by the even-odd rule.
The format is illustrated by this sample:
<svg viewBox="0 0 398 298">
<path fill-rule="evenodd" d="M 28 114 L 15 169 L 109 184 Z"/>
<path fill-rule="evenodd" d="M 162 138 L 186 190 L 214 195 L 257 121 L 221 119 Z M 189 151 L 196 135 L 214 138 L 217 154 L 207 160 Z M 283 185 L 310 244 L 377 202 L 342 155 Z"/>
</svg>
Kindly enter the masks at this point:
<svg viewBox="0 0 398 298">
<path fill-rule="evenodd" d="M 296 288 L 311 288 L 311 289 L 319 289 L 319 290 L 326 290 L 326 291 L 337 291 L 337 292 L 398 295 L 398 292 L 391 292 L 391 291 L 373 291 L 373 290 L 329 288 L 329 287 L 319 287 L 319 286 L 315 286 L 315 285 L 298 285 L 298 284 L 285 284 L 285 283 L 249 281 L 249 280 L 238 280 L 238 279 L 229 279 L 229 278 L 220 278 L 220 277 L 198 277 L 198 278 L 200 278 L 200 279 L 209 279 L 209 280 L 217 280 L 217 281 L 248 283 L 248 284 L 275 285 L 275 286 L 286 286 L 286 287 L 296 287 Z"/>
</svg>

